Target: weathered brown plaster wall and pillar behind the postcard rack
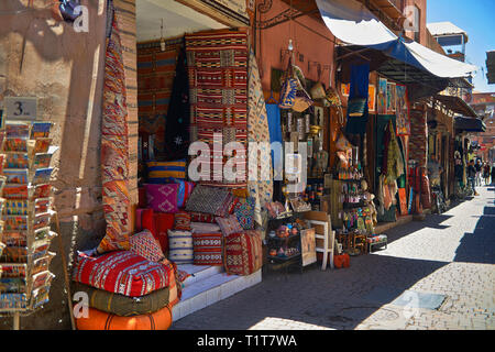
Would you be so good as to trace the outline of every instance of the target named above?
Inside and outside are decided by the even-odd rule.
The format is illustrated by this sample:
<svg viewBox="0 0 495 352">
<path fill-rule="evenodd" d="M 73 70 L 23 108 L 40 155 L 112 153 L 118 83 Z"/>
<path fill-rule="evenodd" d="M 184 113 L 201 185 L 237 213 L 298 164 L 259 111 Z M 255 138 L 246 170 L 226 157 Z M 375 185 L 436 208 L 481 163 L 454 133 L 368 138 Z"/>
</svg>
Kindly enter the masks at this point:
<svg viewBox="0 0 495 352">
<path fill-rule="evenodd" d="M 52 0 L 34 0 L 30 9 L 28 2 L 0 3 L 0 95 L 37 97 L 37 118 L 55 123 L 54 144 L 59 145 L 53 161 L 55 206 L 63 252 L 70 264 L 76 250 L 95 248 L 105 233 L 100 130 L 107 0 L 81 0 L 88 8 L 88 32 L 76 32 L 72 24 L 54 19 Z M 130 188 L 138 199 L 134 0 L 116 0 L 116 8 L 129 95 Z M 22 317 L 21 329 L 70 329 L 59 243 L 55 239 L 51 248 L 57 253 L 51 265 L 56 275 L 51 300 Z M 12 319 L 0 318 L 0 329 L 11 328 Z"/>
</svg>

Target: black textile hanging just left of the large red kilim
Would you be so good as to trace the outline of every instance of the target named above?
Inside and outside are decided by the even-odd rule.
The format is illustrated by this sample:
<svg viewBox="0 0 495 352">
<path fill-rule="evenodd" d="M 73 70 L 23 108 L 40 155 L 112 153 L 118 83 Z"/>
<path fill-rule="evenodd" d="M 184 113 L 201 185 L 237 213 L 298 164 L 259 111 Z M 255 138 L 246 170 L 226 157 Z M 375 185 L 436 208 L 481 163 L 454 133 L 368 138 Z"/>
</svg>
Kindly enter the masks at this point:
<svg viewBox="0 0 495 352">
<path fill-rule="evenodd" d="M 186 50 L 180 48 L 174 88 L 165 128 L 166 160 L 187 157 L 189 148 L 189 80 L 187 79 Z"/>
</svg>

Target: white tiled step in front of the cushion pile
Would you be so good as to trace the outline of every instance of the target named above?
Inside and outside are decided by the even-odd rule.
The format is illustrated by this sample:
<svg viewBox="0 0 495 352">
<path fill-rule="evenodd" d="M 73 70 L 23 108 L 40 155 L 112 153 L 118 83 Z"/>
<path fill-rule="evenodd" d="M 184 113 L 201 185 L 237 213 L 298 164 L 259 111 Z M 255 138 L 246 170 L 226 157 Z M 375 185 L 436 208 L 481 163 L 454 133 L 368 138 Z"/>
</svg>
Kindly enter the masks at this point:
<svg viewBox="0 0 495 352">
<path fill-rule="evenodd" d="M 173 319 L 177 321 L 199 309 L 226 299 L 262 280 L 262 271 L 249 276 L 216 274 L 183 289 L 180 301 L 173 308 Z"/>
</svg>

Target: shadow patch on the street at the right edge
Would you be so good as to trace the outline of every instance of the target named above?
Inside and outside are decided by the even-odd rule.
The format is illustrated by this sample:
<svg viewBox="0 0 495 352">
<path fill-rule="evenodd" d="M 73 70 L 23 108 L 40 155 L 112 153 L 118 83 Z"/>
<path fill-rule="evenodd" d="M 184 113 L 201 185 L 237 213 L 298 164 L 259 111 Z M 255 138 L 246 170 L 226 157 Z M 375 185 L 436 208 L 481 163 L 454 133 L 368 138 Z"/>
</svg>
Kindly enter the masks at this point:
<svg viewBox="0 0 495 352">
<path fill-rule="evenodd" d="M 495 264 L 495 207 L 485 207 L 473 233 L 464 233 L 454 262 Z"/>
</svg>

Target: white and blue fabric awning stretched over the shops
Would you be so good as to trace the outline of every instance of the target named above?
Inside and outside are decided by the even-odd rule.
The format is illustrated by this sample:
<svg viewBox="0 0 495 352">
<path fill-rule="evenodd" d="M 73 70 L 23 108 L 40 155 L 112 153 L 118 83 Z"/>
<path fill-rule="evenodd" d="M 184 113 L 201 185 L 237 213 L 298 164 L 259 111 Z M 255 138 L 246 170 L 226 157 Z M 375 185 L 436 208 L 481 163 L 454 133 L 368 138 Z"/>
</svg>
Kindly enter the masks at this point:
<svg viewBox="0 0 495 352">
<path fill-rule="evenodd" d="M 398 37 L 363 3 L 355 0 L 316 1 L 327 28 L 344 43 L 381 51 L 440 78 L 466 77 L 476 70 L 476 66 L 436 53 L 413 40 Z"/>
</svg>

